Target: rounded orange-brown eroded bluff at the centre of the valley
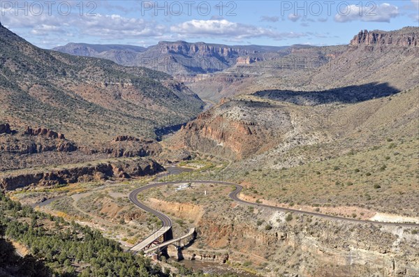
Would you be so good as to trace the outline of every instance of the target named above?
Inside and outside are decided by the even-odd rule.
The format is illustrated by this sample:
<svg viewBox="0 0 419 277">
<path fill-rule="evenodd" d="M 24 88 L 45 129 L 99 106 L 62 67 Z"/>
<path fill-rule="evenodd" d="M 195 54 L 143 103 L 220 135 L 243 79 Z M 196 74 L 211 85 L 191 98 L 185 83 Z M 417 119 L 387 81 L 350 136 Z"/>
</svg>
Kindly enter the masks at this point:
<svg viewBox="0 0 419 277">
<path fill-rule="evenodd" d="M 248 158 L 270 149 L 291 129 L 279 120 L 287 117 L 285 113 L 267 103 L 226 100 L 182 127 L 172 145 L 236 160 Z"/>
</svg>

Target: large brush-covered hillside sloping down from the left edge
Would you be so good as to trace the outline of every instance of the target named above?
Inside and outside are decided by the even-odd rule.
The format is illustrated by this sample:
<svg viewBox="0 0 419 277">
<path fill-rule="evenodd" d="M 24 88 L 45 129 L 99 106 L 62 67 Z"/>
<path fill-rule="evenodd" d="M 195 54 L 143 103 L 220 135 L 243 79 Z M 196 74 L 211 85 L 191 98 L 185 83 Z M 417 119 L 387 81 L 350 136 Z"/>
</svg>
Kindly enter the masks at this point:
<svg viewBox="0 0 419 277">
<path fill-rule="evenodd" d="M 1 121 L 42 126 L 87 144 L 196 117 L 203 101 L 169 75 L 42 50 L 0 25 Z"/>
</svg>

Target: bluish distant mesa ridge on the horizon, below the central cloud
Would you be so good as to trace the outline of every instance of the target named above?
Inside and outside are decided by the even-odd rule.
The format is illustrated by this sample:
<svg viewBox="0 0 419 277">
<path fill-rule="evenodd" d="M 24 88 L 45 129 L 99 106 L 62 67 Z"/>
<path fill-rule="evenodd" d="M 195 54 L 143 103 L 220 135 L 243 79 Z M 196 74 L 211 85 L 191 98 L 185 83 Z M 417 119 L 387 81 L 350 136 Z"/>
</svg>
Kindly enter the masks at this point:
<svg viewBox="0 0 419 277">
<path fill-rule="evenodd" d="M 287 50 L 289 47 L 261 45 L 220 45 L 161 41 L 150 47 L 132 45 L 89 45 L 68 43 L 53 50 L 76 56 L 110 59 L 124 66 L 145 66 L 170 75 L 215 73 L 237 63 L 240 57 L 263 59 L 267 53 Z"/>
</svg>

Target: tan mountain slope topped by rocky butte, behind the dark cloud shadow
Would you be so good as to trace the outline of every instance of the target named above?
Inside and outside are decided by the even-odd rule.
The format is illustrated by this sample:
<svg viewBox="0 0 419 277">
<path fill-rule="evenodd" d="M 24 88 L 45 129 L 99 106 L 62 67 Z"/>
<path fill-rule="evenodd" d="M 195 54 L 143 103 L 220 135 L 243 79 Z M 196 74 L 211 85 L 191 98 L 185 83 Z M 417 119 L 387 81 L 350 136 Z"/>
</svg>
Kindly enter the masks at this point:
<svg viewBox="0 0 419 277">
<path fill-rule="evenodd" d="M 418 84 L 418 38 L 419 27 L 360 31 L 347 45 L 291 47 L 282 56 L 270 59 L 265 54 L 269 59 L 184 81 L 200 98 L 213 102 L 265 89 L 325 91 L 386 83 L 403 91 Z"/>
</svg>

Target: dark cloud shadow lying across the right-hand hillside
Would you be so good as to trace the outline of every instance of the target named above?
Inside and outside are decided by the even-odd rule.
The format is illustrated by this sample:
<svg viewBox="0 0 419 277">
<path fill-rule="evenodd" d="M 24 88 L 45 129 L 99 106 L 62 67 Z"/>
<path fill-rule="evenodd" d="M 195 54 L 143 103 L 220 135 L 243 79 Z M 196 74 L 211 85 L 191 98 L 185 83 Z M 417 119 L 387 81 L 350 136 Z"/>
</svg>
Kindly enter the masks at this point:
<svg viewBox="0 0 419 277">
<path fill-rule="evenodd" d="M 289 102 L 296 105 L 321 105 L 327 103 L 358 103 L 374 98 L 392 96 L 399 92 L 398 89 L 390 87 L 388 83 L 369 83 L 326 91 L 267 90 L 253 94 L 261 98 Z"/>
</svg>

